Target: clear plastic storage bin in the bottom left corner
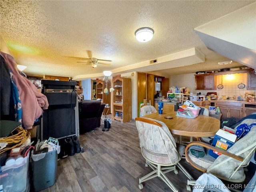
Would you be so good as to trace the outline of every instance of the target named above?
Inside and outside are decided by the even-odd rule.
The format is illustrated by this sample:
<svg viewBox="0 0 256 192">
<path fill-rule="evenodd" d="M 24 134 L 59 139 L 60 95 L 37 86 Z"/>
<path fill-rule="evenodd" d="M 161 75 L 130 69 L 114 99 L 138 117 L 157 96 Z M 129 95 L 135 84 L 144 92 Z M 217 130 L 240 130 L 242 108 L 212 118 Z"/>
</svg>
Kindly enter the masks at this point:
<svg viewBox="0 0 256 192">
<path fill-rule="evenodd" d="M 29 153 L 23 159 L 1 167 L 3 192 L 24 192 L 27 187 Z"/>
</svg>

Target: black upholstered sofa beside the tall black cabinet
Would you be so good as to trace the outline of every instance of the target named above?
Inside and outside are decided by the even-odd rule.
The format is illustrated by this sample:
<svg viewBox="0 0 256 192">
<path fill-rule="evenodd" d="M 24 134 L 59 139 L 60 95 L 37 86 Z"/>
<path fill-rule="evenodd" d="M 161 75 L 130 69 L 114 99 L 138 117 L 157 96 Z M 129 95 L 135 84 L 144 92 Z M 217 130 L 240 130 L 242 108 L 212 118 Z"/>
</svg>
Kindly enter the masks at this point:
<svg viewBox="0 0 256 192">
<path fill-rule="evenodd" d="M 79 103 L 80 134 L 100 127 L 104 107 L 105 103 L 101 103 L 100 100 L 82 100 Z"/>
</svg>

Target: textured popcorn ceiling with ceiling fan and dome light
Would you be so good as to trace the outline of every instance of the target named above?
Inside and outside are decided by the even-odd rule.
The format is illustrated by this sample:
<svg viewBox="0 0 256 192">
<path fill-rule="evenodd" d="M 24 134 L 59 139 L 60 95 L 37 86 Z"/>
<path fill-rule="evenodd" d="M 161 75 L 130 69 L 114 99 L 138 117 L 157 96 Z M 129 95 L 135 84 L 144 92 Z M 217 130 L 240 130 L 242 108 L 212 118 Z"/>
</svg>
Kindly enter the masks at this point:
<svg viewBox="0 0 256 192">
<path fill-rule="evenodd" d="M 148 70 L 162 70 L 166 65 L 172 69 L 160 72 L 192 73 L 224 68 L 217 62 L 229 60 L 208 50 L 193 29 L 253 2 L 1 0 L 0 35 L 18 64 L 28 66 L 24 70 L 27 74 L 77 79 L 102 76 L 104 70 L 120 74 L 136 71 L 141 62 L 196 48 L 205 56 L 205 62 L 190 63 L 188 57 L 184 67 L 163 62 Z M 151 41 L 141 43 L 134 32 L 144 26 L 155 33 Z M 74 58 L 91 56 L 112 60 L 111 66 L 99 64 L 92 68 Z M 228 67 L 237 66 L 241 64 L 234 62 Z M 140 71 L 147 70 L 144 66 Z"/>
</svg>

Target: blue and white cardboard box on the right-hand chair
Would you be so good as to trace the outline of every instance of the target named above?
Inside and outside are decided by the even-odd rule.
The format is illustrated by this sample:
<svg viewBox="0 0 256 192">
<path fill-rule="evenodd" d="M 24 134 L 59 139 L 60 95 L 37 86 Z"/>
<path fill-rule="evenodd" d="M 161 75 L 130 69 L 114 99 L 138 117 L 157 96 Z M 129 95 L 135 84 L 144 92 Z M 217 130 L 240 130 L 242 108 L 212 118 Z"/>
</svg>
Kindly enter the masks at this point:
<svg viewBox="0 0 256 192">
<path fill-rule="evenodd" d="M 236 135 L 222 129 L 218 130 L 212 141 L 212 146 L 227 150 L 236 142 Z M 217 158 L 221 153 L 209 150 L 208 154 Z"/>
</svg>

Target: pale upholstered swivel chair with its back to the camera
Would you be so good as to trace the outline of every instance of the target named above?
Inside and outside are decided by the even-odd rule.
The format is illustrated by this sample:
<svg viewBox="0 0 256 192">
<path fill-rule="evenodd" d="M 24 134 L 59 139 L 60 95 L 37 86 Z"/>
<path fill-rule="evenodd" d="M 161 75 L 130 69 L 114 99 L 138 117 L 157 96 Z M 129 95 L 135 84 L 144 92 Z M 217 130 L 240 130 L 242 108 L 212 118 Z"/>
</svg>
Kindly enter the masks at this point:
<svg viewBox="0 0 256 192">
<path fill-rule="evenodd" d="M 159 177 L 172 191 L 178 192 L 165 174 L 170 171 L 178 174 L 178 170 L 176 170 L 176 166 L 178 166 L 188 179 L 193 180 L 180 164 L 185 146 L 175 143 L 170 130 L 163 122 L 150 118 L 135 118 L 135 121 L 141 153 L 146 159 L 145 166 L 149 165 L 153 169 L 152 172 L 139 179 L 139 189 L 143 188 L 142 182 Z"/>
</svg>

